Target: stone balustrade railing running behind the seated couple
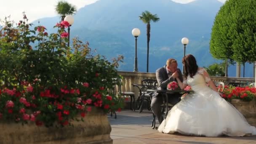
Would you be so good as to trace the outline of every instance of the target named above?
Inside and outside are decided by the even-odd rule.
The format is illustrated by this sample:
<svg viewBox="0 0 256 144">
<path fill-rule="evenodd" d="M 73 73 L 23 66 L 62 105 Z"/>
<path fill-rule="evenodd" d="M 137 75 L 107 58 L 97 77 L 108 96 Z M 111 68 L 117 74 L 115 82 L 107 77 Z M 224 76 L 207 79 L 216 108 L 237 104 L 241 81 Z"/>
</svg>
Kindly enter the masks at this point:
<svg viewBox="0 0 256 144">
<path fill-rule="evenodd" d="M 118 72 L 119 75 L 123 76 L 123 86 L 121 88 L 122 91 L 133 91 L 136 93 L 135 97 L 137 98 L 139 90 L 136 87 L 133 87 L 132 84 L 141 84 L 141 80 L 145 78 L 156 79 L 155 73 L 147 73 L 147 72 Z M 211 77 L 213 81 L 221 81 L 226 85 L 230 82 L 244 82 L 244 83 L 254 83 L 255 78 L 248 77 Z"/>
</svg>

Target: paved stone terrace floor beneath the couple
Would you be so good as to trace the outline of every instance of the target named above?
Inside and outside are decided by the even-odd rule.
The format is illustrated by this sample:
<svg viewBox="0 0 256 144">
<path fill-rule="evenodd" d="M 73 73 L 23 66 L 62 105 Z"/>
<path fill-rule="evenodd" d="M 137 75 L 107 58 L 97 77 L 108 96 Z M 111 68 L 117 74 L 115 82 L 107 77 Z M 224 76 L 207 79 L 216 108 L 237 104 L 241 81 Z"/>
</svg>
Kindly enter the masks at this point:
<svg viewBox="0 0 256 144">
<path fill-rule="evenodd" d="M 159 133 L 151 128 L 152 113 L 147 109 L 141 113 L 124 110 L 117 112 L 117 119 L 110 115 L 108 119 L 113 144 L 256 144 L 256 136 L 201 137 Z"/>
</svg>

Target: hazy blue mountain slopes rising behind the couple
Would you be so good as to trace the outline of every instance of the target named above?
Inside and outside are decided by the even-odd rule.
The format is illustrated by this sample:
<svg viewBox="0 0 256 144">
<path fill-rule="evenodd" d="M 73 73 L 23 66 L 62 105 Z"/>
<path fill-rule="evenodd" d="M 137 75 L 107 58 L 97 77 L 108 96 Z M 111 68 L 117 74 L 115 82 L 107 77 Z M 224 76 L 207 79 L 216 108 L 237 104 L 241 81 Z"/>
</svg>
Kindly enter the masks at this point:
<svg viewBox="0 0 256 144">
<path fill-rule="evenodd" d="M 109 60 L 122 54 L 125 59 L 119 70 L 133 71 L 135 40 L 131 30 L 137 27 L 141 30 L 138 37 L 138 69 L 145 72 L 146 24 L 139 20 L 139 15 L 147 10 L 160 18 L 156 23 L 151 22 L 149 72 L 155 72 L 170 57 L 177 59 L 178 67 L 182 67 L 182 37 L 189 38 L 186 54 L 193 54 L 200 67 L 208 66 L 220 62 L 209 53 L 209 40 L 214 18 L 221 5 L 223 3 L 218 0 L 196 0 L 188 4 L 171 0 L 99 0 L 77 11 L 75 22 L 70 27 L 70 36 L 88 41 L 91 48 L 96 48 Z M 56 32 L 52 27 L 59 22 L 59 17 L 39 21 L 48 31 Z M 34 23 L 37 24 L 37 21 Z M 230 76 L 235 76 L 234 71 L 229 72 Z M 250 69 L 246 68 L 246 72 L 252 76 Z"/>
</svg>

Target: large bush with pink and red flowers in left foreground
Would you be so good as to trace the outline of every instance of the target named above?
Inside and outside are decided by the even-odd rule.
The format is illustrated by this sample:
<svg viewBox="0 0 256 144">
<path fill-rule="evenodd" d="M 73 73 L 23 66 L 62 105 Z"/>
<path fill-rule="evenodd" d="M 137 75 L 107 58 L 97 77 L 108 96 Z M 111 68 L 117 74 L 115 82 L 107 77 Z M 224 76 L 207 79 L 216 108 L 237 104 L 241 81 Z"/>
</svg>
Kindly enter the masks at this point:
<svg viewBox="0 0 256 144">
<path fill-rule="evenodd" d="M 121 79 L 113 63 L 92 56 L 88 43 L 78 38 L 67 46 L 67 21 L 29 29 L 27 17 L 16 27 L 5 19 L 0 30 L 0 120 L 35 122 L 46 127 L 72 125 L 77 115 L 86 117 L 91 107 L 120 111 L 123 99 L 109 92 Z"/>
</svg>

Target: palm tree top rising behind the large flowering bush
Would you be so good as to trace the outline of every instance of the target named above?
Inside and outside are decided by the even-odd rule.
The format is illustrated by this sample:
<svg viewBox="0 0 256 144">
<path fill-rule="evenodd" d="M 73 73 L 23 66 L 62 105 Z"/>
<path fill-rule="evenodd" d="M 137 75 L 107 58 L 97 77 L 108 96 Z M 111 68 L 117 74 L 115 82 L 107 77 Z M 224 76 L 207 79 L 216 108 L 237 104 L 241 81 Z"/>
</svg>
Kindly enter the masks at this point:
<svg viewBox="0 0 256 144">
<path fill-rule="evenodd" d="M 61 15 L 61 21 L 64 20 L 65 16 L 74 14 L 77 11 L 75 5 L 68 3 L 67 1 L 61 0 L 55 6 L 56 12 Z"/>
</svg>

